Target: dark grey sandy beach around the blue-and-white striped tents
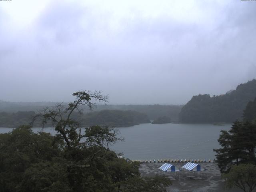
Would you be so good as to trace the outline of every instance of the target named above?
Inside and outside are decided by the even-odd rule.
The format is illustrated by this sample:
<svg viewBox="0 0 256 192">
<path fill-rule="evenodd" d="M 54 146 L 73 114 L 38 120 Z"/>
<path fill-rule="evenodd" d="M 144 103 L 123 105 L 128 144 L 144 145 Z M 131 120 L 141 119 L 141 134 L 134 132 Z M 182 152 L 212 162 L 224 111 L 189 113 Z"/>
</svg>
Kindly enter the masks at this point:
<svg viewBox="0 0 256 192">
<path fill-rule="evenodd" d="M 225 189 L 224 181 L 216 163 L 199 163 L 201 172 L 163 172 L 158 168 L 164 163 L 142 163 L 140 164 L 141 176 L 154 176 L 156 174 L 168 176 L 172 180 L 172 186 L 168 187 L 168 192 L 241 192 L 240 189 Z M 185 163 L 170 163 L 179 170 Z M 206 171 L 204 170 L 206 169 Z M 198 179 L 193 179 L 198 178 Z"/>
</svg>

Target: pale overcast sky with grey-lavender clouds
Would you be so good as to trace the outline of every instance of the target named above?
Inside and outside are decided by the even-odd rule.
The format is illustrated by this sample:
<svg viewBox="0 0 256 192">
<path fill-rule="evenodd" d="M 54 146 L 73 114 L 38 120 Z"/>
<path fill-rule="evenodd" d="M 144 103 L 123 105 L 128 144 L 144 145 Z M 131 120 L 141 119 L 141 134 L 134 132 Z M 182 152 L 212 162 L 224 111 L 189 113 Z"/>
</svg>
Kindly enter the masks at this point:
<svg viewBox="0 0 256 192">
<path fill-rule="evenodd" d="M 0 1 L 0 100 L 185 104 L 256 78 L 256 1 Z"/>
</svg>

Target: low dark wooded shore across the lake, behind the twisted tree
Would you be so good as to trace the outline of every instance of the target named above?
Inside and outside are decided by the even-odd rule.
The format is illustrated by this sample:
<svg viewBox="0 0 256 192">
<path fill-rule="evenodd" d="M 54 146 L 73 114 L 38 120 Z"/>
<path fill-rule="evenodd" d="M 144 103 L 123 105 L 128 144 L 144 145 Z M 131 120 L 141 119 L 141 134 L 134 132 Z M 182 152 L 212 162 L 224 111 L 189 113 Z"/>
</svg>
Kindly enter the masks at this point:
<svg viewBox="0 0 256 192">
<path fill-rule="evenodd" d="M 16 112 L 7 113 L 0 112 L 0 127 L 16 128 L 23 124 L 30 124 L 32 121 L 32 116 L 35 116 L 34 111 L 28 112 Z M 78 119 L 80 114 L 74 112 L 72 118 Z M 80 124 L 83 127 L 88 127 L 92 125 L 108 125 L 108 126 L 134 126 L 140 123 L 149 123 L 150 120 L 148 116 L 137 111 L 121 111 L 121 110 L 102 110 L 96 112 L 90 112 L 83 114 L 80 120 Z M 34 127 L 40 127 L 42 122 L 36 120 L 34 122 Z M 45 126 L 51 126 L 51 124 L 45 124 Z"/>
</svg>

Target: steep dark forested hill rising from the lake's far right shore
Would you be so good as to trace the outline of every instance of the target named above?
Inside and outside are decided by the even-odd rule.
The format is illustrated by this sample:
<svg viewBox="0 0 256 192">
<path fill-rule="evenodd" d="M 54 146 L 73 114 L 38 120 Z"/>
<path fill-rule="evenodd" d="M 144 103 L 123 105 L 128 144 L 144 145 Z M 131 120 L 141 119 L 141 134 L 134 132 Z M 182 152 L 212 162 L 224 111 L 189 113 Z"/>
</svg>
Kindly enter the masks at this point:
<svg viewBox="0 0 256 192">
<path fill-rule="evenodd" d="M 213 123 L 242 120 L 246 105 L 255 97 L 256 79 L 240 84 L 236 90 L 224 95 L 210 97 L 209 94 L 199 94 L 193 96 L 183 106 L 179 114 L 179 121 L 183 123 Z"/>
</svg>

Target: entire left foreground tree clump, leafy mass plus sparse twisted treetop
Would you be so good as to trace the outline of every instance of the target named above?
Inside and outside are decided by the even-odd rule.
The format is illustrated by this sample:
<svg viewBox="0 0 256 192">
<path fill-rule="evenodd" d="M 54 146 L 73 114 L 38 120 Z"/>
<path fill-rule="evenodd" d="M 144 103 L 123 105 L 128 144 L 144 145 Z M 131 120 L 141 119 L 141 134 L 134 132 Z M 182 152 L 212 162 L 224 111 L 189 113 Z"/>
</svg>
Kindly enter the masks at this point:
<svg viewBox="0 0 256 192">
<path fill-rule="evenodd" d="M 74 112 L 92 108 L 92 100 L 106 102 L 100 92 L 76 92 L 76 100 L 57 104 L 38 113 L 56 136 L 35 134 L 21 126 L 0 134 L 1 192 L 121 192 L 166 191 L 170 181 L 162 177 L 141 178 L 139 163 L 119 158 L 108 146 L 122 140 L 113 128 L 82 129 Z M 84 130 L 84 132 L 82 132 Z M 136 185 L 133 183 L 136 183 Z M 129 190 L 126 190 L 129 189 Z"/>
</svg>

